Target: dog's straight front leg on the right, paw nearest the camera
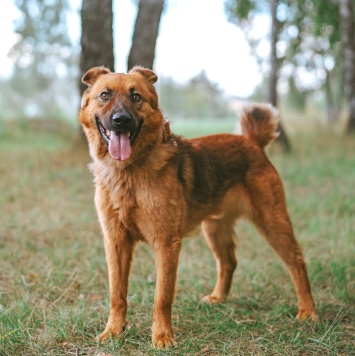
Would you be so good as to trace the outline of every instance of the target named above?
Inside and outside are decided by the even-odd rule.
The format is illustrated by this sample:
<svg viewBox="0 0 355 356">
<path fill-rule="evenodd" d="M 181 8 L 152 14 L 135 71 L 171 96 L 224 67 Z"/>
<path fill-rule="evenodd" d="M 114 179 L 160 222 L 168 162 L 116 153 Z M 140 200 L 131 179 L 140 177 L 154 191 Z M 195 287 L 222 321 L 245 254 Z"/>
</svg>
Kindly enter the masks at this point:
<svg viewBox="0 0 355 356">
<path fill-rule="evenodd" d="M 155 243 L 157 285 L 155 291 L 152 344 L 154 348 L 163 349 L 176 346 L 171 323 L 172 304 L 181 238 L 169 242 Z"/>
</svg>

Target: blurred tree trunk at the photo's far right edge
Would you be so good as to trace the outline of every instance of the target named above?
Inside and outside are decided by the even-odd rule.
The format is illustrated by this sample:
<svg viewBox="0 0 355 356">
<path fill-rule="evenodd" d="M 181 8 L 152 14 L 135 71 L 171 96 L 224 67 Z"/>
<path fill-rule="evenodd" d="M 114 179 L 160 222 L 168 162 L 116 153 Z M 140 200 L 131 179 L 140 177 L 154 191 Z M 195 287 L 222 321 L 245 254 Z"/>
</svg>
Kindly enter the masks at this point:
<svg viewBox="0 0 355 356">
<path fill-rule="evenodd" d="M 340 0 L 341 41 L 344 51 L 345 92 L 349 119 L 347 133 L 355 134 L 355 20 L 353 0 Z"/>
</svg>

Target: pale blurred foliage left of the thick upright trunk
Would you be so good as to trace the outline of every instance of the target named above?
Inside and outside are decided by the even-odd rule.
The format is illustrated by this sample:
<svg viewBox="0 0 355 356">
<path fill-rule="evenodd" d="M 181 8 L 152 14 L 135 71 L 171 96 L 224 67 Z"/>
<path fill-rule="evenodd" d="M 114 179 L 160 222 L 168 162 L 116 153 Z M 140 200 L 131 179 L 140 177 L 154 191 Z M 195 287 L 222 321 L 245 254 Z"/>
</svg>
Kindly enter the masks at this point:
<svg viewBox="0 0 355 356">
<path fill-rule="evenodd" d="M 15 23 L 18 41 L 10 52 L 13 74 L 1 90 L 5 110 L 11 116 L 68 115 L 69 108 L 77 105 L 74 79 L 78 75 L 77 49 L 73 48 L 67 31 L 69 2 L 16 0 L 15 3 L 21 17 Z"/>
</svg>

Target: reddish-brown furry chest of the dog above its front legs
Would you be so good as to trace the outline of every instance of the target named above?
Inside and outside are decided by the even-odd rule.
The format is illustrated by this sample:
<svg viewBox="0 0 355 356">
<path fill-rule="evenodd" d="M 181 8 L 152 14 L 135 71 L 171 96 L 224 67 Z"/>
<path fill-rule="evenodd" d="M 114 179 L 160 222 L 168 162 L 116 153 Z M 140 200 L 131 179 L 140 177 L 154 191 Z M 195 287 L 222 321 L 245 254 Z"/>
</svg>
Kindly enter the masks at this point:
<svg viewBox="0 0 355 356">
<path fill-rule="evenodd" d="M 177 189 L 176 175 L 146 169 L 102 169 L 95 173 L 96 183 L 103 187 L 109 201 L 106 214 L 118 219 L 137 239 L 151 242 L 162 231 L 178 229 L 182 191 Z"/>
</svg>

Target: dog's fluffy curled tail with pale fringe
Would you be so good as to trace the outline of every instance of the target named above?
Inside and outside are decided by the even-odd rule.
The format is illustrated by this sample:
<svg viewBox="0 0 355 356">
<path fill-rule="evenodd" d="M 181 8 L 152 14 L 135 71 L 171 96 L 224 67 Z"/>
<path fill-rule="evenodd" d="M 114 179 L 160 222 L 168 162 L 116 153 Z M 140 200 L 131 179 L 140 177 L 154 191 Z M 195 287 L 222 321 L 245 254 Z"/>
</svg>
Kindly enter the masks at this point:
<svg viewBox="0 0 355 356">
<path fill-rule="evenodd" d="M 270 104 L 252 103 L 245 106 L 240 115 L 242 134 L 265 147 L 279 134 L 278 111 Z"/>
</svg>

